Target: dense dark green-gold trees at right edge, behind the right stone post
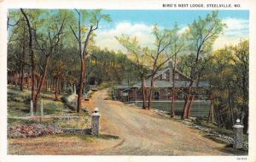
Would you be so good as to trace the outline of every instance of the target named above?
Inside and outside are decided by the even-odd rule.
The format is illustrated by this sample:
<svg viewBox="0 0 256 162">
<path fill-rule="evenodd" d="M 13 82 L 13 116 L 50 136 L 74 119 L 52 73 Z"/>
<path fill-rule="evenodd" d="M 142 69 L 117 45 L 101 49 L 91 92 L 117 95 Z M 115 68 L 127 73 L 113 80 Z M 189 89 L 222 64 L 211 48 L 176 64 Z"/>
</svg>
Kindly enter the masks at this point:
<svg viewBox="0 0 256 162">
<path fill-rule="evenodd" d="M 232 129 L 236 119 L 244 121 L 247 133 L 248 42 L 224 47 L 207 55 L 201 77 L 210 81 L 211 108 L 208 122 Z"/>
</svg>

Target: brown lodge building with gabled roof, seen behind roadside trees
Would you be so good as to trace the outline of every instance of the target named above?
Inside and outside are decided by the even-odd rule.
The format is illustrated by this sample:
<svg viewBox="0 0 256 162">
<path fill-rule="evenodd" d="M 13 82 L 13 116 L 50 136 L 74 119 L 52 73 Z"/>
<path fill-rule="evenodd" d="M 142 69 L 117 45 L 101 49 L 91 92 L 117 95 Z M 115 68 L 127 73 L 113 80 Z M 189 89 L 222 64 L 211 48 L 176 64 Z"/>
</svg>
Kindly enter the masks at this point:
<svg viewBox="0 0 256 162">
<path fill-rule="evenodd" d="M 174 84 L 172 76 L 174 74 Z M 145 82 L 146 100 L 149 96 L 151 78 L 148 77 Z M 172 100 L 172 90 L 175 88 L 176 95 L 175 100 L 185 100 L 185 94 L 190 84 L 190 78 L 184 75 L 179 70 L 173 70 L 172 62 L 168 63 L 168 66 L 163 70 L 157 71 L 154 75 L 154 91 L 152 101 L 170 101 Z M 174 87 L 173 87 L 174 85 Z M 194 82 L 193 94 L 195 100 L 207 100 L 207 87 L 209 83 L 207 81 Z M 113 97 L 122 102 L 137 102 L 143 100 L 142 83 L 137 82 L 132 86 L 119 86 L 116 87 L 117 91 L 113 92 Z"/>
</svg>

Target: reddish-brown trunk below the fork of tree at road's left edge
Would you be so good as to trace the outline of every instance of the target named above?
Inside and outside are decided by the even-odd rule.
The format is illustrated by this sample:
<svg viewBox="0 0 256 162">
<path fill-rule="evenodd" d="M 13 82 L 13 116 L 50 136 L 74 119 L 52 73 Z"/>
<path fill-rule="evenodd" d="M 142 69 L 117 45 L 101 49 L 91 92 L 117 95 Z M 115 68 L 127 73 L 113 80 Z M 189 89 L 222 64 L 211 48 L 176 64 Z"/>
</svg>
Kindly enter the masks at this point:
<svg viewBox="0 0 256 162">
<path fill-rule="evenodd" d="M 79 113 L 82 108 L 82 93 L 84 87 L 84 75 L 85 75 L 85 59 L 81 56 L 81 73 L 80 73 L 80 81 L 79 81 L 79 92 L 78 92 L 78 107 L 77 112 Z"/>
</svg>

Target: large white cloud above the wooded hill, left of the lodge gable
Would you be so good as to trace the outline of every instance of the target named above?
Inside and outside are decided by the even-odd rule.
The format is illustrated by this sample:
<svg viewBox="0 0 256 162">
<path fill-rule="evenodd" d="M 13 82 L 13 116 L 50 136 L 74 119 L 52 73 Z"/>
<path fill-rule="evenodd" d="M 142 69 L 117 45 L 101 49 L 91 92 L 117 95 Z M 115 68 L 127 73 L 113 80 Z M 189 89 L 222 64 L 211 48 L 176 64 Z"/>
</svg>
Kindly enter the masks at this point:
<svg viewBox="0 0 256 162">
<path fill-rule="evenodd" d="M 130 22 L 118 23 L 113 29 L 110 30 L 98 30 L 96 31 L 96 45 L 99 47 L 108 47 L 115 51 L 125 48 L 115 39 L 115 36 L 121 36 L 122 34 L 128 36 L 137 36 L 137 40 L 144 46 L 152 46 L 154 43 L 154 36 L 152 36 L 153 25 L 148 26 L 144 24 L 131 24 Z"/>
</svg>

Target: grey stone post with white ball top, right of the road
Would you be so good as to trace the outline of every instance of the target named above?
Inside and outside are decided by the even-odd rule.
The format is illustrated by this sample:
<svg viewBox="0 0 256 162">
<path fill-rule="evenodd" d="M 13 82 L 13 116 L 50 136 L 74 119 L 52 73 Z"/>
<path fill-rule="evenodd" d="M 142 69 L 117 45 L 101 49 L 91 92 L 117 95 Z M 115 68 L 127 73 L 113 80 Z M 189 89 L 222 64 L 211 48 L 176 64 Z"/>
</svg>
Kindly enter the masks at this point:
<svg viewBox="0 0 256 162">
<path fill-rule="evenodd" d="M 236 120 L 236 124 L 233 126 L 234 130 L 234 144 L 233 148 L 243 148 L 243 136 L 242 136 L 242 130 L 243 126 L 240 123 L 240 120 Z"/>
</svg>

